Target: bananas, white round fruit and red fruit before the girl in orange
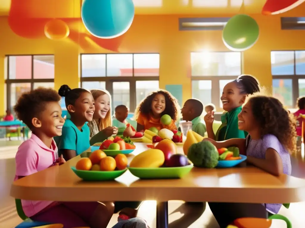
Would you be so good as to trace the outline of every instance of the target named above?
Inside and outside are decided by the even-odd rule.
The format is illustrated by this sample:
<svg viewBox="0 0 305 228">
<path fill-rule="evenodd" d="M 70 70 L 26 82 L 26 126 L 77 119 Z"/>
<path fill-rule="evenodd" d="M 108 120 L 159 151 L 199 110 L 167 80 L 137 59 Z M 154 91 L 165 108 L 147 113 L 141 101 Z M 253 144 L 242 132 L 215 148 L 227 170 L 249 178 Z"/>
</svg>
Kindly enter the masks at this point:
<svg viewBox="0 0 305 228">
<path fill-rule="evenodd" d="M 182 143 L 182 133 L 177 130 L 168 130 L 166 128 L 158 131 L 155 127 L 149 128 L 149 130 L 144 131 L 144 136 L 142 138 L 143 143 L 159 143 L 161 140 L 168 139 L 172 140 L 174 143 Z"/>
</svg>

